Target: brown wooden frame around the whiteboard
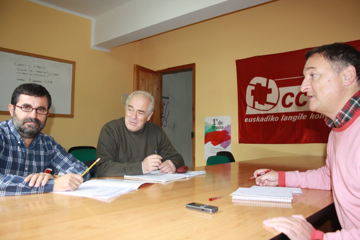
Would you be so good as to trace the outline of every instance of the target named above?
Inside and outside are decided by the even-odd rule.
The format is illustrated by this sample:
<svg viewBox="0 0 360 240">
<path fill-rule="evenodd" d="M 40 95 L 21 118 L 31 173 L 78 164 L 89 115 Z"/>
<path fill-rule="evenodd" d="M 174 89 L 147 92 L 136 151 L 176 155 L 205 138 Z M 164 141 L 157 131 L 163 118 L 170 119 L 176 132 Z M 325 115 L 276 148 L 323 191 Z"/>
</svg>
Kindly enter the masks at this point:
<svg viewBox="0 0 360 240">
<path fill-rule="evenodd" d="M 64 59 L 59 59 L 59 58 L 53 58 L 53 57 L 49 57 L 49 56 L 33 54 L 33 53 L 26 53 L 26 52 L 7 49 L 7 48 L 3 48 L 3 47 L 0 47 L 0 51 L 13 53 L 13 54 L 24 55 L 24 56 L 30 56 L 30 57 L 34 57 L 34 58 L 41 58 L 41 59 L 46 59 L 46 60 L 55 61 L 55 62 L 62 62 L 62 63 L 72 64 L 71 107 L 70 107 L 71 111 L 70 111 L 70 114 L 51 113 L 51 111 L 50 111 L 49 117 L 69 117 L 69 118 L 74 117 L 75 62 L 69 61 L 69 60 L 64 60 Z M 14 91 L 14 89 L 12 89 L 11 92 L 12 91 Z M 1 109 L 0 109 L 0 114 L 9 114 L 10 115 L 8 110 L 5 111 L 5 110 L 1 110 Z"/>
</svg>

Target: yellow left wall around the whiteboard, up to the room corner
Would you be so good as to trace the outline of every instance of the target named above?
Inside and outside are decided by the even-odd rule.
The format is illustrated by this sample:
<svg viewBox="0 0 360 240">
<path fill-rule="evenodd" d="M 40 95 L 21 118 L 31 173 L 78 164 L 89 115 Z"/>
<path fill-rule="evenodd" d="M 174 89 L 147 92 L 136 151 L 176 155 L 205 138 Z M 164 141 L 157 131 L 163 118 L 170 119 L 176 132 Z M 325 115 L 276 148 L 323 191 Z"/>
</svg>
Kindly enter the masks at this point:
<svg viewBox="0 0 360 240">
<path fill-rule="evenodd" d="M 89 19 L 30 1 L 0 0 L 1 47 L 76 62 L 74 117 L 50 117 L 43 130 L 66 150 L 96 147 L 101 127 L 124 116 L 121 92 L 132 92 L 138 45 L 107 53 L 90 49 L 90 34 Z M 0 121 L 8 119 L 0 115 Z"/>
</svg>

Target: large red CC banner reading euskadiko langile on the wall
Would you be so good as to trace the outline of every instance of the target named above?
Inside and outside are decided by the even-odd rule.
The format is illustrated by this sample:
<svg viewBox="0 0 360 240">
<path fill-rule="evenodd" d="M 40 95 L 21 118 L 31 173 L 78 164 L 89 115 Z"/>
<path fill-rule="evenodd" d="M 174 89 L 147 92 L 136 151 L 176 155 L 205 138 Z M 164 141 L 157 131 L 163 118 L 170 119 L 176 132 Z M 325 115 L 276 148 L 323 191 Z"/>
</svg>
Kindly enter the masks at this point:
<svg viewBox="0 0 360 240">
<path fill-rule="evenodd" d="M 346 42 L 360 50 L 360 40 Z M 236 60 L 239 143 L 326 143 L 325 116 L 300 90 L 308 49 Z"/>
</svg>

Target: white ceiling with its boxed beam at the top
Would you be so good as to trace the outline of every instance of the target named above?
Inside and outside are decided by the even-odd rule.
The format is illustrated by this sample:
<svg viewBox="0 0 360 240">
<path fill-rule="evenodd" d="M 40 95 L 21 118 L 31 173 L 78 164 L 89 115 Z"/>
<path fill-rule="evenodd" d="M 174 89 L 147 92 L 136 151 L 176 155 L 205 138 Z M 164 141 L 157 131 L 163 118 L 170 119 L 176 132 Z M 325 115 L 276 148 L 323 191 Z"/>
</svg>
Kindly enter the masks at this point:
<svg viewBox="0 0 360 240">
<path fill-rule="evenodd" d="M 112 47 L 270 0 L 28 0 L 91 19 L 91 48 Z"/>
</svg>

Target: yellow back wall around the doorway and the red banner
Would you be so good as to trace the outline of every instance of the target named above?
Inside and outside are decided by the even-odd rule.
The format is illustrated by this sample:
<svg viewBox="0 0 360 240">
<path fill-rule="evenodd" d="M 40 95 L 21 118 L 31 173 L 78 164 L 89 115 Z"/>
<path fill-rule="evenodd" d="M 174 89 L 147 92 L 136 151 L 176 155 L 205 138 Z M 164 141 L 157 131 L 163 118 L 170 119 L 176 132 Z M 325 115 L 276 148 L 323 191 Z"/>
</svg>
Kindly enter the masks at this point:
<svg viewBox="0 0 360 240">
<path fill-rule="evenodd" d="M 158 70 L 196 63 L 196 166 L 206 164 L 207 116 L 231 116 L 236 160 L 325 156 L 325 144 L 238 143 L 235 60 L 360 39 L 359 9 L 359 0 L 275 1 L 141 40 L 139 64 Z"/>
</svg>

